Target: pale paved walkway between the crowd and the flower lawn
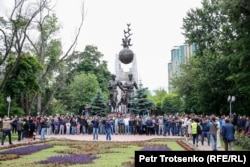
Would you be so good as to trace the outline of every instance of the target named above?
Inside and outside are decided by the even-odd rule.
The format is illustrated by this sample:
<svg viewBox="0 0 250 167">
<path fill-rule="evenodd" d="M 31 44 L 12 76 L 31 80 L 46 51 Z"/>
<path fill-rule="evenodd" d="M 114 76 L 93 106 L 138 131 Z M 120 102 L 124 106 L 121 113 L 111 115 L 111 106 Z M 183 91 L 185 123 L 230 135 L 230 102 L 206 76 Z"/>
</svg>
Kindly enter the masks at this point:
<svg viewBox="0 0 250 167">
<path fill-rule="evenodd" d="M 37 141 L 40 141 L 39 137 L 40 136 L 36 136 L 36 140 L 30 140 L 30 141 L 28 141 L 28 140 L 22 140 L 20 142 L 13 141 L 13 145 L 20 144 L 20 143 L 37 142 Z M 82 134 L 80 134 L 80 135 L 48 135 L 48 136 L 46 136 L 46 140 L 50 140 L 50 139 L 93 141 L 93 136 L 88 135 L 88 134 L 86 134 L 86 135 L 82 135 Z M 188 145 L 193 147 L 192 140 L 187 139 L 185 137 L 181 137 L 181 136 L 158 136 L 158 135 L 147 136 L 145 134 L 144 135 L 111 135 L 111 142 L 116 142 L 116 141 L 122 141 L 122 142 L 146 141 L 146 140 L 152 140 L 152 139 L 183 140 Z M 7 141 L 7 140 L 5 140 L 5 141 Z M 106 141 L 106 136 L 99 134 L 98 141 Z M 5 142 L 3 146 L 0 145 L 0 148 L 6 147 L 6 146 L 9 146 L 8 142 Z M 212 150 L 211 146 L 207 145 L 207 142 L 205 142 L 205 144 L 202 146 L 200 141 L 199 141 L 198 147 L 194 146 L 193 148 L 195 148 L 196 150 L 200 150 L 200 151 L 211 151 Z M 223 151 L 224 149 L 218 148 L 218 150 Z"/>
</svg>

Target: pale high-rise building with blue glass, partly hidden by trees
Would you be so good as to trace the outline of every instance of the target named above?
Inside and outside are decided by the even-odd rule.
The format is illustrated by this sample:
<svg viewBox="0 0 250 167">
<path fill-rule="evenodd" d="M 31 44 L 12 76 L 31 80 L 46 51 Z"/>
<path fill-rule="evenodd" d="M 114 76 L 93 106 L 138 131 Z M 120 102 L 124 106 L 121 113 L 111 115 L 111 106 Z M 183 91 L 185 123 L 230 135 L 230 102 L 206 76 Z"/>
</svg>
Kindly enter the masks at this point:
<svg viewBox="0 0 250 167">
<path fill-rule="evenodd" d="M 168 63 L 168 92 L 172 91 L 171 79 L 183 74 L 181 64 L 185 64 L 187 60 L 194 54 L 195 45 L 175 46 L 171 50 L 171 62 Z"/>
</svg>

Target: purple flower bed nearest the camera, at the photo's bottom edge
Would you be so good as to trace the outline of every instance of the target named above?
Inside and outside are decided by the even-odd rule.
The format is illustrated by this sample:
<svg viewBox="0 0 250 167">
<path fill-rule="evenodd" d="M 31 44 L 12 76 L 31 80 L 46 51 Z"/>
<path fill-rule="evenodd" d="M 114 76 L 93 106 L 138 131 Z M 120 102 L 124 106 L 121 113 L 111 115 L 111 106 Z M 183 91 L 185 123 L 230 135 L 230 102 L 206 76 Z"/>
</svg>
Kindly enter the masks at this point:
<svg viewBox="0 0 250 167">
<path fill-rule="evenodd" d="M 63 165 L 72 165 L 72 164 L 87 164 L 91 163 L 97 157 L 95 155 L 79 155 L 79 154 L 70 154 L 70 155 L 59 155 L 53 156 L 46 160 L 39 161 L 40 164 L 63 164 Z"/>
</svg>

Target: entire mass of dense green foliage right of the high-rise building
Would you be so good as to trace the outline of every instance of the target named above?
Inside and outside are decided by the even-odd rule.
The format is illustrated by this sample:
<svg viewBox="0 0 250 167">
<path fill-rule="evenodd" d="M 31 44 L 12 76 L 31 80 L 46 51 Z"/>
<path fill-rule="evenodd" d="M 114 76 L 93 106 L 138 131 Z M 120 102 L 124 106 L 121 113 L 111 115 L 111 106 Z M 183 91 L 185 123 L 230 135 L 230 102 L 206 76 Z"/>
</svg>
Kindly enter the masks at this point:
<svg viewBox="0 0 250 167">
<path fill-rule="evenodd" d="M 247 0 L 203 0 L 183 19 L 186 42 L 195 44 L 196 52 L 171 84 L 189 112 L 228 114 L 227 96 L 234 95 L 234 111 L 246 113 L 249 11 Z"/>
</svg>

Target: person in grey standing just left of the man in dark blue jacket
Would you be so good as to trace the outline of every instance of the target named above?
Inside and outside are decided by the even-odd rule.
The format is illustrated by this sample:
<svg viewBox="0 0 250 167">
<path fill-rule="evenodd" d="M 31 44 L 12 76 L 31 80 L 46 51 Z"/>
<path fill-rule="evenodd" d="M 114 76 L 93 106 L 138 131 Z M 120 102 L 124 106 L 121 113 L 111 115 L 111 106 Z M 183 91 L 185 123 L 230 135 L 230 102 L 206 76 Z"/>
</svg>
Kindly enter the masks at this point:
<svg viewBox="0 0 250 167">
<path fill-rule="evenodd" d="M 212 143 L 212 151 L 217 151 L 217 130 L 218 130 L 218 124 L 216 123 L 215 117 L 212 117 L 209 127 L 209 133 Z"/>
</svg>

